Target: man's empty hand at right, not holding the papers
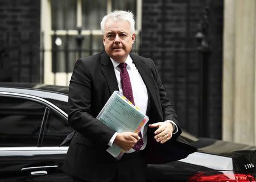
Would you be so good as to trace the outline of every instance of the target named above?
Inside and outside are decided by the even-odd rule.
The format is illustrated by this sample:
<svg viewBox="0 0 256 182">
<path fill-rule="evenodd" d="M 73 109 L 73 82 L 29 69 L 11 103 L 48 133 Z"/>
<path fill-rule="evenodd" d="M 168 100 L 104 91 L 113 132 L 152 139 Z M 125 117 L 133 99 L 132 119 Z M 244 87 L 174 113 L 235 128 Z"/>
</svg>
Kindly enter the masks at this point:
<svg viewBox="0 0 256 182">
<path fill-rule="evenodd" d="M 172 138 L 172 131 L 174 131 L 172 123 L 158 122 L 148 126 L 158 128 L 157 130 L 155 130 L 154 138 L 156 139 L 156 142 L 165 143 Z"/>
</svg>

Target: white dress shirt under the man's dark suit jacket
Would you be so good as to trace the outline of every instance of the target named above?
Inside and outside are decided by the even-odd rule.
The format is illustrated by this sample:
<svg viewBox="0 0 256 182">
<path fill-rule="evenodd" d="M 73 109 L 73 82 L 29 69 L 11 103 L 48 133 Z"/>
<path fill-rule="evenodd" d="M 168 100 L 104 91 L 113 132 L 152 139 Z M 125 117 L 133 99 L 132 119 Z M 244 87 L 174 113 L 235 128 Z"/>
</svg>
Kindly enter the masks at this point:
<svg viewBox="0 0 256 182">
<path fill-rule="evenodd" d="M 115 71 L 115 77 L 117 77 L 117 84 L 118 84 L 118 88 L 119 88 L 119 92 L 123 94 L 123 89 L 122 89 L 122 84 L 121 84 L 121 77 L 120 77 L 120 68 L 118 67 L 118 65 L 120 63 L 118 63 L 117 61 L 113 60 L 110 57 L 110 60 L 113 63 L 114 66 L 114 71 Z M 148 94 L 147 94 L 147 88 L 146 85 L 144 84 L 144 81 L 142 80 L 141 74 L 139 74 L 138 69 L 135 67 L 135 64 L 133 63 L 133 60 L 131 59 L 130 55 L 128 55 L 125 63 L 127 64 L 127 72 L 129 73 L 129 77 L 130 77 L 130 81 L 131 81 L 131 88 L 133 90 L 133 98 L 134 98 L 134 104 L 135 106 L 139 107 L 139 110 L 143 113 L 146 114 L 147 111 L 147 104 L 148 104 Z M 159 122 L 159 121 L 156 121 Z M 176 126 L 176 123 L 173 121 L 168 120 L 168 122 L 173 123 Z M 142 134 L 142 139 L 143 139 L 143 146 L 141 147 L 141 150 L 143 150 L 146 147 L 147 144 L 147 125 L 145 125 L 142 129 L 141 129 L 141 134 Z M 176 126 L 176 130 L 174 131 L 173 134 L 175 134 L 177 132 L 177 126 Z M 117 137 L 117 133 L 115 133 L 113 135 L 113 137 L 109 140 L 108 145 L 112 146 L 115 137 Z M 131 153 L 134 152 L 135 150 L 133 150 L 133 148 L 131 148 L 129 151 L 127 151 L 126 153 Z"/>
</svg>

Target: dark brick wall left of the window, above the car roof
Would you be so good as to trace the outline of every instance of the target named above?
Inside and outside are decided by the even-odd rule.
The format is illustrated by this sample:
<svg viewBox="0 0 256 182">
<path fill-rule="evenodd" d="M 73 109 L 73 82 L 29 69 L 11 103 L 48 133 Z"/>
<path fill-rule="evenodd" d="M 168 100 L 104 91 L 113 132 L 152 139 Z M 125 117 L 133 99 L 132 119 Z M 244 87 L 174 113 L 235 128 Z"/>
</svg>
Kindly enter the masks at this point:
<svg viewBox="0 0 256 182">
<path fill-rule="evenodd" d="M 39 82 L 40 1 L 0 1 L 0 81 Z"/>
</svg>

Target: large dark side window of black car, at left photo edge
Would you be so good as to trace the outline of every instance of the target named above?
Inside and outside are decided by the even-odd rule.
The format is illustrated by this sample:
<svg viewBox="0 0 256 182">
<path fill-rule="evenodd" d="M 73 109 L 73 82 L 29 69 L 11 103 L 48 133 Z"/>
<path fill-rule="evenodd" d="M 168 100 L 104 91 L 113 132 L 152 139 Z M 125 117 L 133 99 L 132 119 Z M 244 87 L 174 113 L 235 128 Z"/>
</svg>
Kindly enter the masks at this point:
<svg viewBox="0 0 256 182">
<path fill-rule="evenodd" d="M 36 146 L 45 106 L 24 98 L 0 97 L 0 146 Z"/>
</svg>

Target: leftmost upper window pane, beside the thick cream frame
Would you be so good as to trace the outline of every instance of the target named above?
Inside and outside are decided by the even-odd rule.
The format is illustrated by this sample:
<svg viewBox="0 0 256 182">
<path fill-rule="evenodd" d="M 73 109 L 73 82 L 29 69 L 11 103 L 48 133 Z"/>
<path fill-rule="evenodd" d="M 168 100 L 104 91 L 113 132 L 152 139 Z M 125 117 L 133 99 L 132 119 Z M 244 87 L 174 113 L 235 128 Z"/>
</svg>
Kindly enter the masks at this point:
<svg viewBox="0 0 256 182">
<path fill-rule="evenodd" d="M 52 30 L 76 29 L 76 0 L 52 0 Z"/>
</svg>

